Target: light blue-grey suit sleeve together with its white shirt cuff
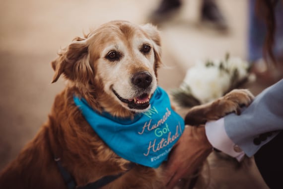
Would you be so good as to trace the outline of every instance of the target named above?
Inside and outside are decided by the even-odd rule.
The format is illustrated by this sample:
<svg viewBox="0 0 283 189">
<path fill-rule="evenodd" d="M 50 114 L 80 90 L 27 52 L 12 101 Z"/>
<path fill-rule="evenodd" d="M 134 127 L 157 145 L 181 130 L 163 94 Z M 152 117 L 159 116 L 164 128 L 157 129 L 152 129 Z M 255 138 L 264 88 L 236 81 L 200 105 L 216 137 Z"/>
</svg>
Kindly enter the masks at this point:
<svg viewBox="0 0 283 189">
<path fill-rule="evenodd" d="M 240 116 L 232 113 L 206 124 L 206 135 L 212 146 L 238 161 L 244 153 L 254 155 L 278 132 L 254 144 L 260 134 L 279 130 L 283 130 L 283 80 L 258 95 L 249 107 L 242 109 Z M 235 148 L 238 146 L 244 153 Z"/>
</svg>

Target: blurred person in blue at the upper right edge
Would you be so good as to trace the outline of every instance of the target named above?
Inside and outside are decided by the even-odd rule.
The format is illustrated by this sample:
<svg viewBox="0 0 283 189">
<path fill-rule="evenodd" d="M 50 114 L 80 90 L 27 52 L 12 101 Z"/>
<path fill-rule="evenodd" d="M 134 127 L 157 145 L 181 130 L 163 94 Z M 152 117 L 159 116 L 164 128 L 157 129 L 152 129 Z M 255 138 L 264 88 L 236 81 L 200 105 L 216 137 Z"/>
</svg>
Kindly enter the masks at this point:
<svg viewBox="0 0 283 189">
<path fill-rule="evenodd" d="M 276 31 L 274 32 L 274 59 L 278 67 L 268 68 L 265 64 L 264 43 L 267 33 L 267 26 L 263 20 L 263 11 L 256 9 L 256 0 L 249 0 L 248 3 L 248 60 L 252 63 L 252 71 L 258 76 L 260 82 L 274 84 L 283 76 L 283 2 L 279 0 L 274 9 Z"/>
</svg>

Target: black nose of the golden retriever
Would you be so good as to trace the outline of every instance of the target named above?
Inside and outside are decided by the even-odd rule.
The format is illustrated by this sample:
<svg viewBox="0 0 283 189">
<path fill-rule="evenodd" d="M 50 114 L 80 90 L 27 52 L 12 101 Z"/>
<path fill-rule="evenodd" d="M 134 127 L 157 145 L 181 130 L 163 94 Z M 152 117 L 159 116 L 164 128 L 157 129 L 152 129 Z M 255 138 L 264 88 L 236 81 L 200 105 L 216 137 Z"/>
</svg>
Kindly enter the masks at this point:
<svg viewBox="0 0 283 189">
<path fill-rule="evenodd" d="M 146 89 L 151 82 L 152 76 L 148 72 L 139 72 L 132 78 L 132 83 L 142 89 Z"/>
</svg>

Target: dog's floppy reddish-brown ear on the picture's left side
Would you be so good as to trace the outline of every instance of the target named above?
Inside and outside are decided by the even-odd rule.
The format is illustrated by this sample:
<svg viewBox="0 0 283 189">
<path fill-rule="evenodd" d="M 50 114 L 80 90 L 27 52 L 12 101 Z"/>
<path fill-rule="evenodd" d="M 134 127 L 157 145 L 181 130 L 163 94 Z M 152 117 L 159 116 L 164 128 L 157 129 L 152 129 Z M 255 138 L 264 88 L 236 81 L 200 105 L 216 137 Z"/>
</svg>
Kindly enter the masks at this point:
<svg viewBox="0 0 283 189">
<path fill-rule="evenodd" d="M 74 38 L 69 46 L 58 53 L 59 57 L 51 62 L 55 74 L 52 83 L 63 74 L 71 81 L 84 82 L 92 75 L 89 63 L 87 39 Z"/>
</svg>

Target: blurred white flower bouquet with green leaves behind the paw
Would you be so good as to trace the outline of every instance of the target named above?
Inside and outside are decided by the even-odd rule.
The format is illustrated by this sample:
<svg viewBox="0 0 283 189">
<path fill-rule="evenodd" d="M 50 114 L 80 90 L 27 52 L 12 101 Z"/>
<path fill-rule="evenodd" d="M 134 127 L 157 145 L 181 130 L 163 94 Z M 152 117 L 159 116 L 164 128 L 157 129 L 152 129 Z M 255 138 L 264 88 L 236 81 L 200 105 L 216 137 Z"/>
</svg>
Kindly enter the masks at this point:
<svg viewBox="0 0 283 189">
<path fill-rule="evenodd" d="M 187 71 L 180 88 L 172 90 L 173 99 L 192 107 L 210 102 L 248 81 L 249 63 L 237 57 L 197 62 Z"/>
</svg>

